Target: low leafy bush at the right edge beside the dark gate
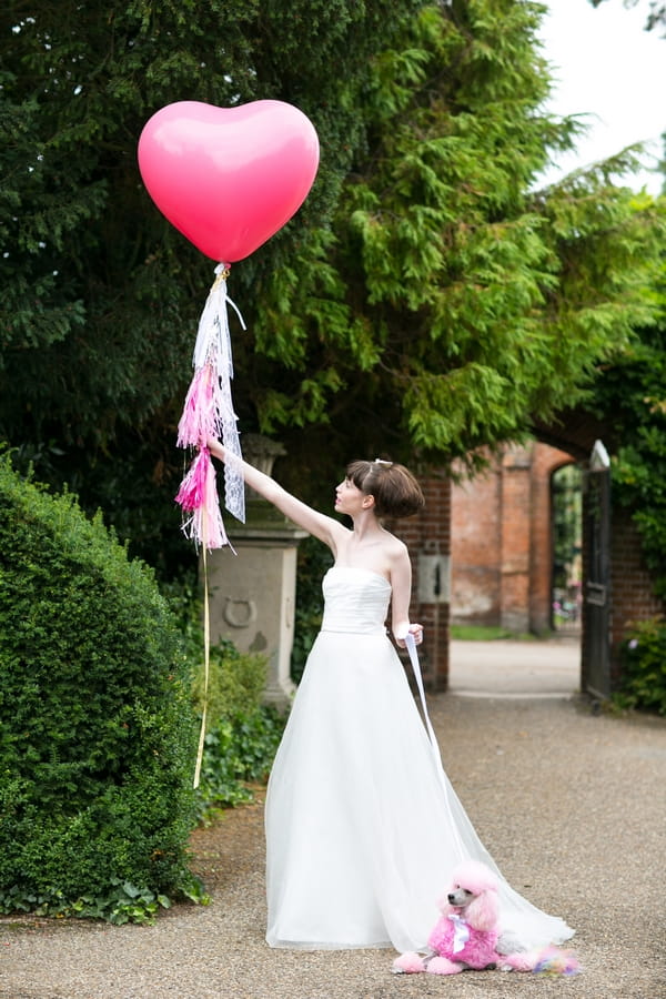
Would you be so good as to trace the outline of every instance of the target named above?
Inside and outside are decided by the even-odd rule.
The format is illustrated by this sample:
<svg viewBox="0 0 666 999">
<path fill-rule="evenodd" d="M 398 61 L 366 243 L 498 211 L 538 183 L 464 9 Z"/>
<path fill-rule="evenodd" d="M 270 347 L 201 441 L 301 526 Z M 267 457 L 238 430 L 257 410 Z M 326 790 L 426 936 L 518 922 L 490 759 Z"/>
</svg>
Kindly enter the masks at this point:
<svg viewBox="0 0 666 999">
<path fill-rule="evenodd" d="M 623 643 L 622 662 L 622 688 L 615 703 L 666 715 L 666 619 L 636 624 Z"/>
</svg>

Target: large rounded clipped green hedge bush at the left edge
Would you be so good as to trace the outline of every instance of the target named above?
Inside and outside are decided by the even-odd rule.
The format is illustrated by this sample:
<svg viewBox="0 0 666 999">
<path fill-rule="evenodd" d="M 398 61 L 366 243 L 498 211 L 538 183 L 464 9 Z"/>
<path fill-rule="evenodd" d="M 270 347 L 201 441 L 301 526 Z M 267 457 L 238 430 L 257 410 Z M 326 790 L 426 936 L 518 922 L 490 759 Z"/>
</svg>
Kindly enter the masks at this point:
<svg viewBox="0 0 666 999">
<path fill-rule="evenodd" d="M 152 573 L 0 457 L 0 911 L 194 895 L 193 722 Z"/>
</svg>

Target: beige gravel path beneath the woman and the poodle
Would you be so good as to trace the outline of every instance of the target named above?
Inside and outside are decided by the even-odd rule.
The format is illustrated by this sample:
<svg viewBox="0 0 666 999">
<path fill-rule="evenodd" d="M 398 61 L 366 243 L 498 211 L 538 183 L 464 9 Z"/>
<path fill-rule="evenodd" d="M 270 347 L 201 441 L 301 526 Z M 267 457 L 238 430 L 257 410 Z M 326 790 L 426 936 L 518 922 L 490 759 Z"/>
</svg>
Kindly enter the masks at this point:
<svg viewBox="0 0 666 999">
<path fill-rule="evenodd" d="M 258 803 L 193 837 L 209 907 L 176 907 L 152 927 L 0 919 L 0 996 L 663 999 L 666 723 L 593 716 L 548 689 L 481 696 L 471 683 L 431 699 L 444 765 L 512 884 L 576 927 L 577 977 L 396 977 L 389 950 L 271 950 Z"/>
</svg>

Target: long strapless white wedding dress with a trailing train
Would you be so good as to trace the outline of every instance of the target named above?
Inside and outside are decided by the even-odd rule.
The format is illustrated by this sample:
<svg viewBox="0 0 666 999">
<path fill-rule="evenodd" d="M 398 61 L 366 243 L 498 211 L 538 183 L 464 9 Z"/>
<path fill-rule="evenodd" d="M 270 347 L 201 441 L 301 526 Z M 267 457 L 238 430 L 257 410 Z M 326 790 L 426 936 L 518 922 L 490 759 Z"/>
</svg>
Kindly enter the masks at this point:
<svg viewBox="0 0 666 999">
<path fill-rule="evenodd" d="M 391 585 L 333 567 L 266 797 L 272 947 L 424 949 L 452 868 L 497 870 L 437 767 L 384 622 Z M 516 949 L 573 930 L 501 884 Z"/>
</svg>

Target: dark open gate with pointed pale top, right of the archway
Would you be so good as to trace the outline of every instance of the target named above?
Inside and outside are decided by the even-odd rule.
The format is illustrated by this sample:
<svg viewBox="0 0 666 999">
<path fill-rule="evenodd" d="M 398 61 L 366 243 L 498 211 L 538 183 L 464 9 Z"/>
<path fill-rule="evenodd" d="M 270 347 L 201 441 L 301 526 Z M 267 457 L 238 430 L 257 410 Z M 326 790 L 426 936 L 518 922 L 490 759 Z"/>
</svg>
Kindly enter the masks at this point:
<svg viewBox="0 0 666 999">
<path fill-rule="evenodd" d="M 597 441 L 584 477 L 587 573 L 583 594 L 583 685 L 610 696 L 610 462 Z"/>
</svg>

